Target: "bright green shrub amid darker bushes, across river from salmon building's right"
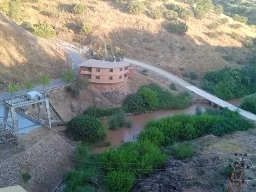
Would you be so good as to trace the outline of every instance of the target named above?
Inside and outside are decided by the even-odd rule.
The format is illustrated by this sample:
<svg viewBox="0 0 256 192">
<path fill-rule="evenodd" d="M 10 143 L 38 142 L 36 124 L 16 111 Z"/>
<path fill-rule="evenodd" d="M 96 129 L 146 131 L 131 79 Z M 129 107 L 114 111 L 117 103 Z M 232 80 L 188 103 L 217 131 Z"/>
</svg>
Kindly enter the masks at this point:
<svg viewBox="0 0 256 192">
<path fill-rule="evenodd" d="M 149 109 L 155 109 L 158 106 L 159 100 L 157 93 L 148 87 L 142 87 L 139 94 L 146 101 Z"/>
</svg>

